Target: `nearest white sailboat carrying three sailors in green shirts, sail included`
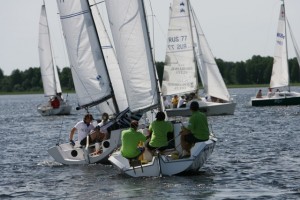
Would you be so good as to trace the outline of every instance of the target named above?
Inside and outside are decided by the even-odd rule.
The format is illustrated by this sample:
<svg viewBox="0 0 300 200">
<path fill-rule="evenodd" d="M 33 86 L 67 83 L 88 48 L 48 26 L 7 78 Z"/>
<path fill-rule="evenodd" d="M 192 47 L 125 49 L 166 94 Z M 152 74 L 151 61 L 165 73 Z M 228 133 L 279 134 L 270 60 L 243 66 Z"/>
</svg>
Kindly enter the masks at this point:
<svg viewBox="0 0 300 200">
<path fill-rule="evenodd" d="M 106 8 L 114 39 L 117 59 L 120 63 L 127 94 L 129 109 L 147 112 L 161 109 L 160 88 L 151 51 L 150 38 L 143 0 L 108 0 Z M 173 122 L 176 149 L 180 146 L 181 122 Z M 216 138 L 196 143 L 191 156 L 175 159 L 170 154 L 158 154 L 147 162 L 137 165 L 123 157 L 120 151 L 114 152 L 109 161 L 117 169 L 131 177 L 171 176 L 184 171 L 197 171 L 212 153 Z"/>
</svg>

